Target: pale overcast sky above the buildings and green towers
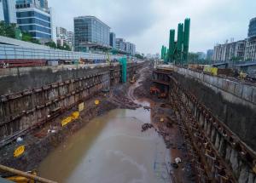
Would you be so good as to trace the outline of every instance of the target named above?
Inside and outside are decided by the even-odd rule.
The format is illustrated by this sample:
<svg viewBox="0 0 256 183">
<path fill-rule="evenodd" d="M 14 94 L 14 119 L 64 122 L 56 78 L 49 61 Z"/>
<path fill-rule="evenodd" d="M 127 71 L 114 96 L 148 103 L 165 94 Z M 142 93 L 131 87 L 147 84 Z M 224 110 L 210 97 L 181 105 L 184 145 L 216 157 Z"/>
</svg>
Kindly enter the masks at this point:
<svg viewBox="0 0 256 183">
<path fill-rule="evenodd" d="M 191 19 L 189 51 L 212 49 L 216 43 L 247 37 L 249 20 L 256 17 L 256 0 L 48 0 L 55 26 L 73 31 L 73 17 L 94 15 L 116 37 L 135 43 L 144 54 L 168 45 L 171 28 Z M 177 31 L 176 31 L 177 36 Z"/>
</svg>

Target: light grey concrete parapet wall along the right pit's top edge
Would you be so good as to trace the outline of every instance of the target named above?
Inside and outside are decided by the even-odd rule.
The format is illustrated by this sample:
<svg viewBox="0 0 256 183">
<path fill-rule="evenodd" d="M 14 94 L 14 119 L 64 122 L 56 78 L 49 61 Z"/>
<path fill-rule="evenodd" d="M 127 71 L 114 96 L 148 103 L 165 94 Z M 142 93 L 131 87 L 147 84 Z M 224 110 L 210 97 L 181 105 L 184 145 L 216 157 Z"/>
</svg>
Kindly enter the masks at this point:
<svg viewBox="0 0 256 183">
<path fill-rule="evenodd" d="M 222 94 L 224 100 L 232 103 L 250 106 L 256 109 L 256 86 L 246 83 L 235 82 L 229 78 L 213 77 L 197 71 L 191 71 L 184 68 L 176 68 L 177 72 L 198 80 L 207 87 L 213 89 L 216 93 Z"/>
</svg>

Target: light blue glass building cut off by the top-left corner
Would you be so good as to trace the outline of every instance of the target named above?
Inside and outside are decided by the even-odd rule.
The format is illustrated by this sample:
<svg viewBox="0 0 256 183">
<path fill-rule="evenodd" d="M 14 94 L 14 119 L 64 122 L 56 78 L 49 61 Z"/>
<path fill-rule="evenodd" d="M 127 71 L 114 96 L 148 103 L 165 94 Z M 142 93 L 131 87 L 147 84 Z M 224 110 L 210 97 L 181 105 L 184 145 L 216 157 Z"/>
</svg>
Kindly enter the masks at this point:
<svg viewBox="0 0 256 183">
<path fill-rule="evenodd" d="M 0 21 L 17 23 L 15 0 L 0 0 Z"/>
</svg>

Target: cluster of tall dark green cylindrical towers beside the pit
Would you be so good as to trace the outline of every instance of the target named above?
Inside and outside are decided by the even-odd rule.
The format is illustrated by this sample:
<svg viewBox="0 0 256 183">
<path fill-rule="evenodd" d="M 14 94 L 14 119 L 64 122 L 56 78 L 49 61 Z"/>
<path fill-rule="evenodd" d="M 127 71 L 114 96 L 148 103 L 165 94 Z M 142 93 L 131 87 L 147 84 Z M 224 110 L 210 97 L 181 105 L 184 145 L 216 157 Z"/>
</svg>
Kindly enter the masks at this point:
<svg viewBox="0 0 256 183">
<path fill-rule="evenodd" d="M 162 46 L 161 60 L 165 63 L 174 62 L 178 65 L 183 65 L 188 61 L 189 54 L 189 32 L 190 32 L 190 19 L 184 20 L 184 23 L 177 25 L 177 42 L 175 42 L 175 30 L 170 30 L 169 35 L 169 49 Z"/>
</svg>

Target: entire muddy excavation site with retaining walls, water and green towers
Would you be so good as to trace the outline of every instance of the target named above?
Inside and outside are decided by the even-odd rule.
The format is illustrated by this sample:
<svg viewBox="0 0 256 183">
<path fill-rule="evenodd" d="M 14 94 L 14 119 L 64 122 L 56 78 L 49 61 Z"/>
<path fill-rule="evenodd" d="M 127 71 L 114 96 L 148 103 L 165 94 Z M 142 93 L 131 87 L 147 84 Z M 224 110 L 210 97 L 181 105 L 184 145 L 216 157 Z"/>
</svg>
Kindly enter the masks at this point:
<svg viewBox="0 0 256 183">
<path fill-rule="evenodd" d="M 255 183 L 256 85 L 189 65 L 189 27 L 160 60 L 2 68 L 0 182 Z"/>
</svg>

